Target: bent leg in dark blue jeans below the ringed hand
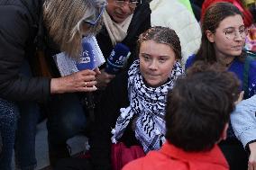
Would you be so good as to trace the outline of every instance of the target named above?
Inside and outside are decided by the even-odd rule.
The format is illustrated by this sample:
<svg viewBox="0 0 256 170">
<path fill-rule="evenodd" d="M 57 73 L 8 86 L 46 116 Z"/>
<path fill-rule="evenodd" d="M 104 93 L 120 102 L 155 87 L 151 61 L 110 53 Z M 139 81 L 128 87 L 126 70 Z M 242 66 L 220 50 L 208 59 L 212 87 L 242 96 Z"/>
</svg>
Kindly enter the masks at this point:
<svg viewBox="0 0 256 170">
<path fill-rule="evenodd" d="M 67 157 L 66 141 L 86 130 L 86 114 L 77 94 L 54 95 L 48 108 L 50 163 L 54 164 L 51 157 L 57 160 Z"/>
</svg>

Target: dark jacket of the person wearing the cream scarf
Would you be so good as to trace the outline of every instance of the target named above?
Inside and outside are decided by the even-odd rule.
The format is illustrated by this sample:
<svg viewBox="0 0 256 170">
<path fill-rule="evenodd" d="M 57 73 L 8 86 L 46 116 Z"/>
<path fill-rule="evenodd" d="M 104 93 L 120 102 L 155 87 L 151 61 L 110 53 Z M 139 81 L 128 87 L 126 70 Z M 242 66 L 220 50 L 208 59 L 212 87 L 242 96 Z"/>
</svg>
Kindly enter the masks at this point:
<svg viewBox="0 0 256 170">
<path fill-rule="evenodd" d="M 139 35 L 148 30 L 151 27 L 151 9 L 148 3 L 142 3 L 137 6 L 133 13 L 132 22 L 129 25 L 127 36 L 121 42 L 131 51 L 131 56 L 129 58 L 128 66 L 133 63 L 133 60 L 136 56 L 136 45 Z M 96 40 L 102 53 L 106 58 L 110 56 L 112 49 L 114 49 L 111 39 L 109 38 L 108 32 L 103 26 L 102 30 L 96 35 Z"/>
</svg>

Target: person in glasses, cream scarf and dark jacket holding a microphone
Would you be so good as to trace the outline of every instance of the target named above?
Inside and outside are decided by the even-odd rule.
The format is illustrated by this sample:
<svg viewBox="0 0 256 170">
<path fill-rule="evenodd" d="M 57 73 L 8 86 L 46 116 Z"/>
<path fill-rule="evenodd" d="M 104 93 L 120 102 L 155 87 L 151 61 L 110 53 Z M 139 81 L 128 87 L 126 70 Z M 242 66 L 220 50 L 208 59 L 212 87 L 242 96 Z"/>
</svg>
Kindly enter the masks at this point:
<svg viewBox="0 0 256 170">
<path fill-rule="evenodd" d="M 129 64 L 133 62 L 136 50 L 135 42 L 139 35 L 151 27 L 151 9 L 145 0 L 107 0 L 103 13 L 103 28 L 96 40 L 105 58 L 108 58 L 116 43 L 122 43 L 130 49 Z M 128 66 L 129 67 L 129 66 Z M 100 68 L 101 74 L 96 76 L 97 87 L 105 89 L 114 75 Z"/>
</svg>

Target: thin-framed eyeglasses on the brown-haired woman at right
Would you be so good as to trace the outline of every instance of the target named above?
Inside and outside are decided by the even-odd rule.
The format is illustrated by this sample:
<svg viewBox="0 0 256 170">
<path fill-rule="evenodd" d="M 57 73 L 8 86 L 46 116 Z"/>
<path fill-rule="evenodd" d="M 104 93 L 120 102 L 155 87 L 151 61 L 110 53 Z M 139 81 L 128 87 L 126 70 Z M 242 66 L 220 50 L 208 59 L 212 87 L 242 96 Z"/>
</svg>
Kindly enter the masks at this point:
<svg viewBox="0 0 256 170">
<path fill-rule="evenodd" d="M 248 34 L 248 29 L 245 27 L 242 27 L 239 30 L 228 28 L 224 30 L 224 34 L 228 40 L 234 40 L 237 36 L 241 36 L 242 39 L 245 39 Z"/>
</svg>

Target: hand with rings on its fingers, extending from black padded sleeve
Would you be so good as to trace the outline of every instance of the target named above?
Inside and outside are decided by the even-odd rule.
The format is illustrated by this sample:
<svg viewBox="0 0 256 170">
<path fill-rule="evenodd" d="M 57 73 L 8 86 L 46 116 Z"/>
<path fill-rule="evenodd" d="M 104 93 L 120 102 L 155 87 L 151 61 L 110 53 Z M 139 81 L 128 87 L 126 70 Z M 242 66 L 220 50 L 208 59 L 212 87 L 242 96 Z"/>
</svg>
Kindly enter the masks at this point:
<svg viewBox="0 0 256 170">
<path fill-rule="evenodd" d="M 99 73 L 98 70 L 86 69 L 69 76 L 52 78 L 50 81 L 50 94 L 96 91 L 96 74 Z"/>
</svg>

